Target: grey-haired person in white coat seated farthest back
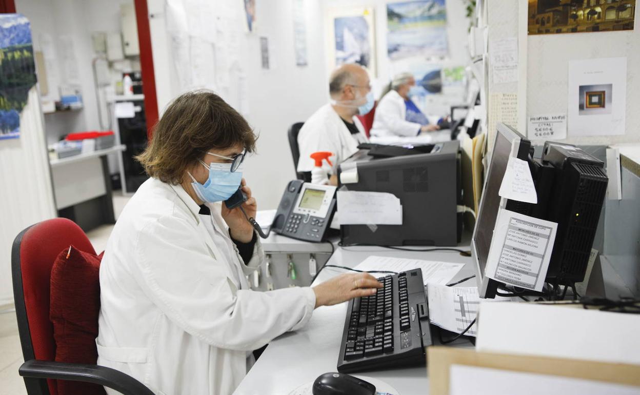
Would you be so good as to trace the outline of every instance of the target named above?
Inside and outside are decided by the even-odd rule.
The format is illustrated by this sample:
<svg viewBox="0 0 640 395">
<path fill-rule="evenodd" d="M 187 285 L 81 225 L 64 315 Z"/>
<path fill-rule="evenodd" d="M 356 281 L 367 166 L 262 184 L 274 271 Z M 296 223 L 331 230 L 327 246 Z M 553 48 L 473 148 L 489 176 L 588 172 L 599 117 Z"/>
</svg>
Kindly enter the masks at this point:
<svg viewBox="0 0 640 395">
<path fill-rule="evenodd" d="M 388 92 L 376 107 L 371 127 L 372 142 L 376 142 L 376 137 L 413 137 L 440 129 L 438 125 L 429 124 L 427 117 L 410 99 L 415 89 L 415 79 L 411 73 L 394 77 Z"/>
</svg>

